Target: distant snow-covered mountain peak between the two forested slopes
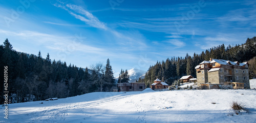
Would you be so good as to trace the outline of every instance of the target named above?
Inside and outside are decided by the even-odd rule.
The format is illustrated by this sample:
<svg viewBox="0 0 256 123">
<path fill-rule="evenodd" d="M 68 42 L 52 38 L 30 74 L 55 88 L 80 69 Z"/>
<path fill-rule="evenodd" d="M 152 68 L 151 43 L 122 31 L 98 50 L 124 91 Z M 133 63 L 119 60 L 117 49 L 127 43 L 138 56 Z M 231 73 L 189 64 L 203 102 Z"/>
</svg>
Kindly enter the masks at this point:
<svg viewBox="0 0 256 123">
<path fill-rule="evenodd" d="M 145 71 L 139 70 L 139 69 L 128 70 L 128 75 L 130 75 L 129 82 L 136 82 L 136 80 L 139 80 L 139 78 L 144 79 L 145 73 L 146 73 Z"/>
</svg>

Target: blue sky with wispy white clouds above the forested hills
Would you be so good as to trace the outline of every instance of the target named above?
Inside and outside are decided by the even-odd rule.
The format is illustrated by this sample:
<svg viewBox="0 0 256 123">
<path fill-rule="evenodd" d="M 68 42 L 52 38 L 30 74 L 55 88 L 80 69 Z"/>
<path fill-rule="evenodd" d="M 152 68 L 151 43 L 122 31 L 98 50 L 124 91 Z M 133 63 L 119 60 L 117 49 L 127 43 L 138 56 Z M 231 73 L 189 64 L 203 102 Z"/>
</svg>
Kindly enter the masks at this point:
<svg viewBox="0 0 256 123">
<path fill-rule="evenodd" d="M 77 67 L 147 70 L 256 36 L 256 1 L 0 1 L 0 39 Z"/>
</svg>

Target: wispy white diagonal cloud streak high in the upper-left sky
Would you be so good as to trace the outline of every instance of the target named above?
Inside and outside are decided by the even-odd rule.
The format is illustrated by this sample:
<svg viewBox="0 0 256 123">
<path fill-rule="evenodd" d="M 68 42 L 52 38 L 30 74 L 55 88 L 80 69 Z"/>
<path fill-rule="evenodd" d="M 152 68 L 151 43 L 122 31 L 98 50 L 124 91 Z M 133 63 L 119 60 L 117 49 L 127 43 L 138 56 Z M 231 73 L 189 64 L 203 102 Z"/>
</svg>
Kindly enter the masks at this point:
<svg viewBox="0 0 256 123">
<path fill-rule="evenodd" d="M 62 8 L 69 12 L 72 16 L 74 16 L 76 19 L 79 19 L 90 26 L 106 29 L 106 25 L 99 21 L 97 17 L 95 17 L 92 13 L 88 12 L 86 9 L 83 9 L 80 6 L 72 5 L 72 4 L 65 4 L 65 3 L 59 3 L 54 4 L 55 7 Z"/>
</svg>

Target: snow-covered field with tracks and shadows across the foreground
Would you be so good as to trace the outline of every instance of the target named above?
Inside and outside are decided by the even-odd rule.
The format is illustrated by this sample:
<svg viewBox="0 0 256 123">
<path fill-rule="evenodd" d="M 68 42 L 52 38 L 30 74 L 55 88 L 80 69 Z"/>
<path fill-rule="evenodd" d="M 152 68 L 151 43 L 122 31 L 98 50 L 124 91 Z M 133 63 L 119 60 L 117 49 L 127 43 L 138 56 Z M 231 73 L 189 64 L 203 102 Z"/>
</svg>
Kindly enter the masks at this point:
<svg viewBox="0 0 256 123">
<path fill-rule="evenodd" d="M 242 103 L 250 113 L 234 114 L 232 101 Z M 1 106 L 0 122 L 256 121 L 256 91 L 253 89 L 153 91 L 147 88 L 140 92 L 90 93 L 8 106 L 8 119 L 4 118 Z"/>
</svg>

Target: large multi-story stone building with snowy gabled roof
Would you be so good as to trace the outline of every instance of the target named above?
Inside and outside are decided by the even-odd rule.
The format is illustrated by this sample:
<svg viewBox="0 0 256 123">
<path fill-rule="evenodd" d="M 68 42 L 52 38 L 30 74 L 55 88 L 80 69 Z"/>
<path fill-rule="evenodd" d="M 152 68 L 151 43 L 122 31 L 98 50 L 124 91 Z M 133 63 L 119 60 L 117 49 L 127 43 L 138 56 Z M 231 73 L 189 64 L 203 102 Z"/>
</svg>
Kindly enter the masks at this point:
<svg viewBox="0 0 256 123">
<path fill-rule="evenodd" d="M 248 63 L 211 59 L 203 61 L 195 69 L 198 86 L 201 83 L 232 84 L 235 89 L 250 88 Z"/>
</svg>

